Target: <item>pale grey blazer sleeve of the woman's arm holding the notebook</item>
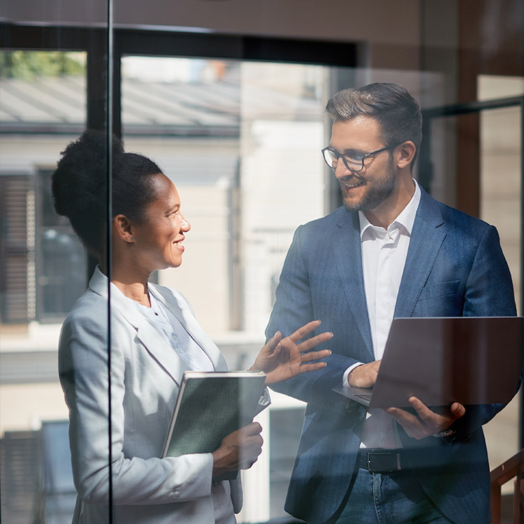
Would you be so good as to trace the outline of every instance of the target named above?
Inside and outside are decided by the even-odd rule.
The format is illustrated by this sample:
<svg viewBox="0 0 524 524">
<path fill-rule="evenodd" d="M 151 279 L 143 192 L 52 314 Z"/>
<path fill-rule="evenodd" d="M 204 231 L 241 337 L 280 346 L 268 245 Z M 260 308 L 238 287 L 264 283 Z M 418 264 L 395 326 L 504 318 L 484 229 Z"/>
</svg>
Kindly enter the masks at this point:
<svg viewBox="0 0 524 524">
<path fill-rule="evenodd" d="M 111 474 L 114 504 L 162 504 L 210 495 L 210 453 L 178 458 L 124 456 L 124 396 L 136 393 L 126 392 L 122 348 L 132 341 L 131 337 L 129 341 L 112 341 L 109 405 L 104 309 L 107 307 L 71 314 L 62 328 L 59 345 L 59 374 L 69 407 L 78 494 L 87 503 L 107 504 Z M 147 414 L 144 417 L 147 423 Z"/>
</svg>

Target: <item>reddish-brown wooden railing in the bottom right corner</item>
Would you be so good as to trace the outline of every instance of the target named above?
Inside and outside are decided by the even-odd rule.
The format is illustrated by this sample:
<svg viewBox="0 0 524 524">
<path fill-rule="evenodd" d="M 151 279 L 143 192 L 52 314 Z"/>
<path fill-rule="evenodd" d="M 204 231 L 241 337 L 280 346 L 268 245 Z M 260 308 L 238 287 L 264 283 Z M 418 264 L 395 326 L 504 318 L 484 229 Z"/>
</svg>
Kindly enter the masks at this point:
<svg viewBox="0 0 524 524">
<path fill-rule="evenodd" d="M 492 524 L 501 524 L 502 497 L 500 486 L 514 477 L 516 479 L 513 495 L 513 522 L 514 524 L 522 524 L 524 522 L 524 449 L 521 449 L 516 455 L 491 472 Z"/>
</svg>

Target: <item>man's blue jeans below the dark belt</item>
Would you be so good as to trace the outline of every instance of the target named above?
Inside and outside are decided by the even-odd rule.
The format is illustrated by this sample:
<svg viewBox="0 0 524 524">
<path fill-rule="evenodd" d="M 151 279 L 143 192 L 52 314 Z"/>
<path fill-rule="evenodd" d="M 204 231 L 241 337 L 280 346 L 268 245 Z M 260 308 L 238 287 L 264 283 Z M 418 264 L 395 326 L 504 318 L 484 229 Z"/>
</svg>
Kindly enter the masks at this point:
<svg viewBox="0 0 524 524">
<path fill-rule="evenodd" d="M 449 524 L 409 471 L 359 469 L 336 524 Z"/>
</svg>

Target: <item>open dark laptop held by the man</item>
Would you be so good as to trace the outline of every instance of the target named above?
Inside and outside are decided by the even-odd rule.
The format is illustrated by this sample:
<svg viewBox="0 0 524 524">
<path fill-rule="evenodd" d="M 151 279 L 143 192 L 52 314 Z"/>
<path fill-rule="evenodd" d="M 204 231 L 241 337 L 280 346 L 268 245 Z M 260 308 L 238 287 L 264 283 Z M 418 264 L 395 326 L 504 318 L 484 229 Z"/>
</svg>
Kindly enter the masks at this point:
<svg viewBox="0 0 524 524">
<path fill-rule="evenodd" d="M 393 319 L 373 388 L 333 388 L 367 407 L 506 403 L 521 376 L 522 316 Z"/>
</svg>

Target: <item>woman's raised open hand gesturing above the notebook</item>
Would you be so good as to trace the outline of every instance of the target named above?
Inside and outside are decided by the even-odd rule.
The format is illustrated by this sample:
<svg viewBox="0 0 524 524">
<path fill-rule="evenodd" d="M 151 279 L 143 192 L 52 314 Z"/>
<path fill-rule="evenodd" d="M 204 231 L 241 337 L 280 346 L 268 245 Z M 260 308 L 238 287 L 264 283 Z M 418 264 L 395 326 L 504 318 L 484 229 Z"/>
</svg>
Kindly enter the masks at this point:
<svg viewBox="0 0 524 524">
<path fill-rule="evenodd" d="M 310 349 L 321 344 L 321 342 L 330 340 L 333 333 L 321 333 L 298 343 L 319 326 L 320 321 L 314 320 L 285 338 L 282 338 L 282 333 L 277 331 L 260 350 L 255 363 L 249 369 L 265 372 L 265 384 L 275 384 L 275 382 L 296 377 L 300 373 L 322 369 L 326 365 L 325 362 L 309 364 L 308 362 L 326 358 L 331 354 L 331 351 L 329 349 L 310 351 Z"/>
</svg>

